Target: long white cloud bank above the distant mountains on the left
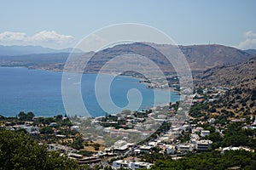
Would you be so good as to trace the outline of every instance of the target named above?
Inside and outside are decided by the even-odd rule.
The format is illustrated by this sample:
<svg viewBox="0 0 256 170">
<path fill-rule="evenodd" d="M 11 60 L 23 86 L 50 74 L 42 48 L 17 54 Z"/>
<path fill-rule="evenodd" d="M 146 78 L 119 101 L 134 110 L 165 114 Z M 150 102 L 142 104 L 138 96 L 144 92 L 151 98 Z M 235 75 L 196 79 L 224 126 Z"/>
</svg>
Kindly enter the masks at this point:
<svg viewBox="0 0 256 170">
<path fill-rule="evenodd" d="M 46 48 L 73 47 L 74 37 L 61 35 L 55 31 L 40 31 L 33 36 L 24 32 L 4 31 L 0 33 L 1 45 L 40 45 Z"/>
</svg>

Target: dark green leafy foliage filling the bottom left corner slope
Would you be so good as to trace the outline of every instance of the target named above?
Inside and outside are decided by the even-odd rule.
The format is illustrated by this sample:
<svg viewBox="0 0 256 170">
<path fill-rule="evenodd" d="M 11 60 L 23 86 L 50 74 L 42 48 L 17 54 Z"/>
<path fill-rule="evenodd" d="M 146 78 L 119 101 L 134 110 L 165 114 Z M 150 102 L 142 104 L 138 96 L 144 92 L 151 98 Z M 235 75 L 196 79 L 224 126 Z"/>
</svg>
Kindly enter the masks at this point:
<svg viewBox="0 0 256 170">
<path fill-rule="evenodd" d="M 26 133 L 0 131 L 0 169 L 79 169 L 76 161 L 48 151 Z"/>
</svg>

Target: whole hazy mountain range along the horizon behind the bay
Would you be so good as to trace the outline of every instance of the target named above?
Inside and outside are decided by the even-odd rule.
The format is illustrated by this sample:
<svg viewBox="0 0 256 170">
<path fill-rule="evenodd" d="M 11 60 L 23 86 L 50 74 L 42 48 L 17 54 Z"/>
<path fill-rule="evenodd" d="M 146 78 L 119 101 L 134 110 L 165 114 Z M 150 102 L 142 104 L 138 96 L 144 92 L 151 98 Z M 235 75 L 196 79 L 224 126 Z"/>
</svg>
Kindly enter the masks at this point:
<svg viewBox="0 0 256 170">
<path fill-rule="evenodd" d="M 170 47 L 170 45 L 148 42 L 116 45 L 96 53 L 90 59 L 86 69 L 88 72 L 99 71 L 102 65 L 116 56 L 140 54 L 153 60 L 163 71 L 175 71 L 166 57 L 155 49 L 160 48 L 161 51 L 167 52 Z M 254 56 L 252 49 L 242 51 L 217 44 L 179 46 L 179 48 L 188 60 L 192 71 L 206 71 L 216 66 L 236 65 Z M 61 71 L 72 50 L 72 48 L 56 50 L 40 46 L 0 46 L 0 66 L 26 66 L 33 69 Z M 80 54 L 80 58 L 88 57 L 80 50 L 76 50 L 76 52 Z"/>
</svg>

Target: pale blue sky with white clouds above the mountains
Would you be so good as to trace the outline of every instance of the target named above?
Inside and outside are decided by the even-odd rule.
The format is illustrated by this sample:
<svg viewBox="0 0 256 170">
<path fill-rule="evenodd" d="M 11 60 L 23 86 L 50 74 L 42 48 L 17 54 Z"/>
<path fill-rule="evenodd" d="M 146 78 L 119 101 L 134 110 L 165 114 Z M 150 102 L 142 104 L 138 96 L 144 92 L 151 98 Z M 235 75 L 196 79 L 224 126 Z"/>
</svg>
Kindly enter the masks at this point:
<svg viewBox="0 0 256 170">
<path fill-rule="evenodd" d="M 73 47 L 104 26 L 153 26 L 180 45 L 256 48 L 255 0 L 0 0 L 0 45 Z"/>
</svg>

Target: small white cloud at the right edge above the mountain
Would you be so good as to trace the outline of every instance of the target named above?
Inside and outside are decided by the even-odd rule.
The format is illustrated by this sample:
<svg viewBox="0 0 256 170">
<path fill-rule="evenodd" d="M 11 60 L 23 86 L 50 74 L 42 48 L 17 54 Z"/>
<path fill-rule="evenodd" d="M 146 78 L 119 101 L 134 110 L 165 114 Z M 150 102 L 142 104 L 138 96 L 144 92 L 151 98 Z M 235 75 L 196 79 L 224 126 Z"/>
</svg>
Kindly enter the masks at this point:
<svg viewBox="0 0 256 170">
<path fill-rule="evenodd" d="M 244 33 L 244 37 L 246 37 L 246 40 L 243 42 L 240 42 L 237 48 L 240 49 L 250 49 L 250 48 L 256 48 L 256 33 L 253 31 L 246 31 Z"/>
</svg>

